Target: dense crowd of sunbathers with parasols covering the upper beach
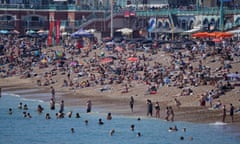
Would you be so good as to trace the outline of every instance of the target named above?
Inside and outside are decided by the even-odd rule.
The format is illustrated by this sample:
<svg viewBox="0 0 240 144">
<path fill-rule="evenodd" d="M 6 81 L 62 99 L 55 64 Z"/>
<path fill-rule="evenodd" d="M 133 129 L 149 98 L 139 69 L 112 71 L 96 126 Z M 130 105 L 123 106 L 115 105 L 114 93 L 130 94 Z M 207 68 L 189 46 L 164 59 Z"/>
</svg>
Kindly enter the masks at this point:
<svg viewBox="0 0 240 144">
<path fill-rule="evenodd" d="M 82 38 L 80 43 L 67 38 L 61 46 L 48 47 L 46 41 L 39 38 L 1 35 L 0 77 L 34 78 L 36 85 L 50 87 L 52 109 L 56 102 L 53 88 L 56 83 L 74 91 L 102 87 L 101 92 L 114 90 L 118 85 L 122 87 L 122 94 L 141 83 L 145 85 L 146 95 L 157 94 L 161 87 L 169 86 L 181 89 L 177 96 L 195 95 L 194 87 L 209 85 L 214 88 L 196 95 L 201 97 L 201 106 L 209 102 L 211 107 L 212 99 L 239 86 L 240 74 L 231 71 L 232 64 L 239 62 L 238 41 L 224 39 L 218 45 L 209 46 L 205 40 L 198 39 L 190 48 L 165 52 L 164 61 L 155 58 L 169 49 L 167 44 L 139 52 L 137 47 L 143 45 L 127 40 L 117 43 Z M 216 61 L 219 67 L 213 69 L 207 65 Z M 178 107 L 181 105 L 179 101 L 176 103 Z M 91 111 L 90 106 L 87 111 Z M 152 115 L 152 111 L 148 114 Z"/>
</svg>

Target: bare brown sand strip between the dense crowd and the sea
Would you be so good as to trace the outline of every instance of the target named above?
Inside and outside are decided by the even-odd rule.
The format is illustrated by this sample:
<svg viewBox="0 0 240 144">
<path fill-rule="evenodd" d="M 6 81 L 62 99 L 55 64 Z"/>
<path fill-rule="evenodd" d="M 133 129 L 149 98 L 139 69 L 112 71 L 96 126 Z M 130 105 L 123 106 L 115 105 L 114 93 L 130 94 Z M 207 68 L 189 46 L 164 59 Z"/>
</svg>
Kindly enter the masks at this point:
<svg viewBox="0 0 240 144">
<path fill-rule="evenodd" d="M 1 79 L 0 87 L 2 92 L 13 92 L 15 94 L 20 94 L 25 98 L 30 99 L 40 99 L 46 102 L 49 101 L 51 97 L 49 87 L 38 87 L 34 83 L 33 79 L 19 79 L 18 77 L 10 77 Z M 169 90 L 164 90 L 169 89 Z M 87 100 L 91 99 L 94 109 L 101 109 L 103 113 L 111 112 L 113 115 L 127 115 L 127 116 L 137 116 L 145 117 L 147 113 L 146 99 L 151 99 L 154 101 L 159 101 L 161 106 L 160 118 L 165 118 L 165 107 L 172 106 L 175 112 L 175 121 L 187 121 L 194 123 L 214 123 L 221 122 L 222 120 L 222 110 L 211 110 L 209 106 L 200 107 L 197 96 L 187 96 L 178 97 L 182 105 L 177 108 L 173 102 L 173 97 L 171 95 L 163 94 L 171 91 L 173 88 L 163 87 L 162 93 L 157 95 L 142 95 L 137 94 L 136 91 L 132 90 L 127 94 L 119 95 L 117 92 L 106 91 L 100 92 L 99 89 L 85 89 L 79 91 L 70 91 L 66 89 L 56 89 L 56 100 L 64 100 L 67 106 L 79 106 L 85 107 Z M 20 92 L 24 90 L 25 93 Z M 161 89 L 160 89 L 161 91 Z M 227 105 L 228 103 L 233 103 L 237 108 L 239 102 L 233 101 L 239 97 L 239 88 L 234 91 L 227 93 L 226 95 L 220 97 L 221 100 Z M 169 92 L 170 93 L 170 92 Z M 114 95 L 115 94 L 115 95 Z M 43 96 L 44 95 L 44 96 Z M 46 96 L 45 96 L 46 95 Z M 129 107 L 130 96 L 134 96 L 134 112 L 131 112 Z M 227 98 L 226 98 L 227 97 Z M 228 103 L 227 103 L 228 102 Z M 228 108 L 228 105 L 227 105 Z M 155 116 L 155 111 L 154 111 Z M 229 113 L 226 118 L 226 122 L 229 124 L 234 124 L 240 128 L 240 114 L 236 113 L 235 122 L 231 123 Z"/>
</svg>

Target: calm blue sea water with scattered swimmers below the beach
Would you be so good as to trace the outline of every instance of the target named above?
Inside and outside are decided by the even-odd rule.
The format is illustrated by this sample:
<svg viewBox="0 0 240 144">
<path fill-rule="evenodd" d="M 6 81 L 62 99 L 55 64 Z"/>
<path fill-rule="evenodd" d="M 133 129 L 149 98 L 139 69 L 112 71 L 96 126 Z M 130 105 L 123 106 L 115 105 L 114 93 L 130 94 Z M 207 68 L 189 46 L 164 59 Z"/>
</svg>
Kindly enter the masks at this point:
<svg viewBox="0 0 240 144">
<path fill-rule="evenodd" d="M 25 118 L 18 104 L 28 105 L 32 118 Z M 37 105 L 44 112 L 37 112 Z M 13 113 L 10 115 L 9 108 Z M 24 99 L 17 95 L 2 94 L 0 98 L 0 144 L 239 144 L 240 132 L 221 122 L 193 124 L 188 122 L 166 122 L 155 118 L 127 117 L 112 114 L 106 120 L 105 113 L 96 109 L 86 113 L 84 108 L 65 107 L 72 111 L 71 118 L 57 119 L 56 110 L 49 109 L 49 103 L 40 100 Z M 51 119 L 46 120 L 45 114 Z M 81 118 L 75 118 L 80 113 Z M 101 118 L 103 125 L 98 124 Z M 138 120 L 140 118 L 140 120 Z M 88 124 L 85 124 L 88 120 Z M 134 125 L 132 131 L 130 126 Z M 177 126 L 178 131 L 170 132 L 169 127 Z M 74 129 L 72 133 L 71 128 Z M 186 131 L 183 129 L 186 128 Z M 111 136 L 109 132 L 114 129 Z M 137 136 L 141 133 L 141 136 Z M 183 138 L 182 140 L 180 138 Z"/>
</svg>

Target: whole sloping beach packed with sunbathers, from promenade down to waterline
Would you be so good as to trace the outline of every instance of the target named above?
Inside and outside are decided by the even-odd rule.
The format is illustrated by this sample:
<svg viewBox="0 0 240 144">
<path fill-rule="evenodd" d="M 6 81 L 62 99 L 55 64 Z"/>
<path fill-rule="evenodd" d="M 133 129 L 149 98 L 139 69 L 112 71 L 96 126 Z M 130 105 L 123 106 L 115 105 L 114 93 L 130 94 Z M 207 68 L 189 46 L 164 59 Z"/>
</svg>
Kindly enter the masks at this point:
<svg viewBox="0 0 240 144">
<path fill-rule="evenodd" d="M 240 42 L 214 38 L 64 36 L 48 45 L 38 34 L 2 34 L 0 87 L 37 88 L 49 97 L 28 98 L 66 105 L 91 101 L 106 113 L 239 123 Z"/>
</svg>

